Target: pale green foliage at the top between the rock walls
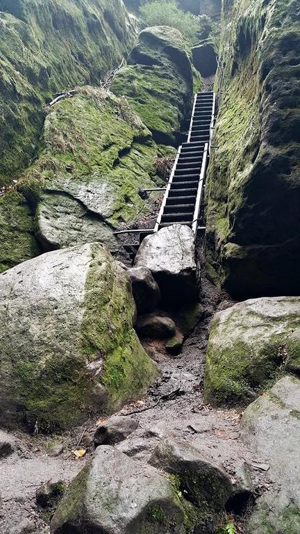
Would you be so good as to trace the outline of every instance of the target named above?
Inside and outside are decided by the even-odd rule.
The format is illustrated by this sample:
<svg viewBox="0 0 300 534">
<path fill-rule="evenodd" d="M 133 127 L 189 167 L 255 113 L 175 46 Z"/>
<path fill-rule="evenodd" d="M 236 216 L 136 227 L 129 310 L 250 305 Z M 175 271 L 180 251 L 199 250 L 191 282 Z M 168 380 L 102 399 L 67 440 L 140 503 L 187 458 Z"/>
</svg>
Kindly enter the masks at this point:
<svg viewBox="0 0 300 534">
<path fill-rule="evenodd" d="M 178 8 L 174 0 L 154 0 L 140 7 L 140 14 L 147 26 L 171 26 L 191 42 L 199 39 L 201 17 Z"/>
</svg>

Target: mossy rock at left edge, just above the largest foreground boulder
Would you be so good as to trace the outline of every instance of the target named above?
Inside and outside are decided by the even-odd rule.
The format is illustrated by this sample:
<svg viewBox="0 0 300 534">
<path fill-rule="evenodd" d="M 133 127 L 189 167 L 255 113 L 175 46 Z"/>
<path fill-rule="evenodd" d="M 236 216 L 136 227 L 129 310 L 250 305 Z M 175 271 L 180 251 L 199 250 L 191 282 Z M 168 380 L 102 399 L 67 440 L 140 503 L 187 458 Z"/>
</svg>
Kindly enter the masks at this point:
<svg viewBox="0 0 300 534">
<path fill-rule="evenodd" d="M 0 197 L 0 273 L 40 254 L 33 213 L 17 191 Z"/>
</svg>

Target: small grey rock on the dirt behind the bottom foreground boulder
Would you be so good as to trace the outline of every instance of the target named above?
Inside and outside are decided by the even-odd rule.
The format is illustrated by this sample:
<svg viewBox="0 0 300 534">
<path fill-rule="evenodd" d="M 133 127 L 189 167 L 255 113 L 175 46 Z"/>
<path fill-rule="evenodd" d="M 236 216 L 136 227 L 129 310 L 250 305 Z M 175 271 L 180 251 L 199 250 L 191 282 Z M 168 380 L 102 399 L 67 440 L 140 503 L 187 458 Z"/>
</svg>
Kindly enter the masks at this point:
<svg viewBox="0 0 300 534">
<path fill-rule="evenodd" d="M 138 421 L 129 416 L 113 416 L 99 425 L 94 433 L 94 446 L 122 442 L 138 428 Z"/>
</svg>

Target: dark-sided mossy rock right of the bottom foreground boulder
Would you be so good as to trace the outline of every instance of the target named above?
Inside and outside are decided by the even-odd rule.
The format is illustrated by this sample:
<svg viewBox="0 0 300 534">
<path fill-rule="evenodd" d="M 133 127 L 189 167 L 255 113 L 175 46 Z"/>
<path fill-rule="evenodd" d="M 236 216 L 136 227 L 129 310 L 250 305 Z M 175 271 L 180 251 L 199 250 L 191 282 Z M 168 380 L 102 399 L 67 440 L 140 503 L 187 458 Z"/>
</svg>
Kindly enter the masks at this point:
<svg viewBox="0 0 300 534">
<path fill-rule="evenodd" d="M 197 448 L 187 442 L 165 439 L 156 446 L 149 462 L 175 476 L 185 498 L 206 510 L 212 521 L 222 514 L 233 489 L 231 480 Z"/>
</svg>

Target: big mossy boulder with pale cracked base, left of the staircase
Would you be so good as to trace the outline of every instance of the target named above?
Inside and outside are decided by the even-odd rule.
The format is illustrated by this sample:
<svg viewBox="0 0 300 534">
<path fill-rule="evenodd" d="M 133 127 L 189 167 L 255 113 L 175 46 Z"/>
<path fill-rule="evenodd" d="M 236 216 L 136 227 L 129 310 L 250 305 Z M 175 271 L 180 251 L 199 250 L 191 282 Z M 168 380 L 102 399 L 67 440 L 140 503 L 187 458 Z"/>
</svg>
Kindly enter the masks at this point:
<svg viewBox="0 0 300 534">
<path fill-rule="evenodd" d="M 149 213 L 140 188 L 163 184 L 159 155 L 124 98 L 84 87 L 53 106 L 38 157 L 18 186 L 35 211 L 43 249 L 92 241 L 119 248 L 114 229 Z"/>
</svg>

